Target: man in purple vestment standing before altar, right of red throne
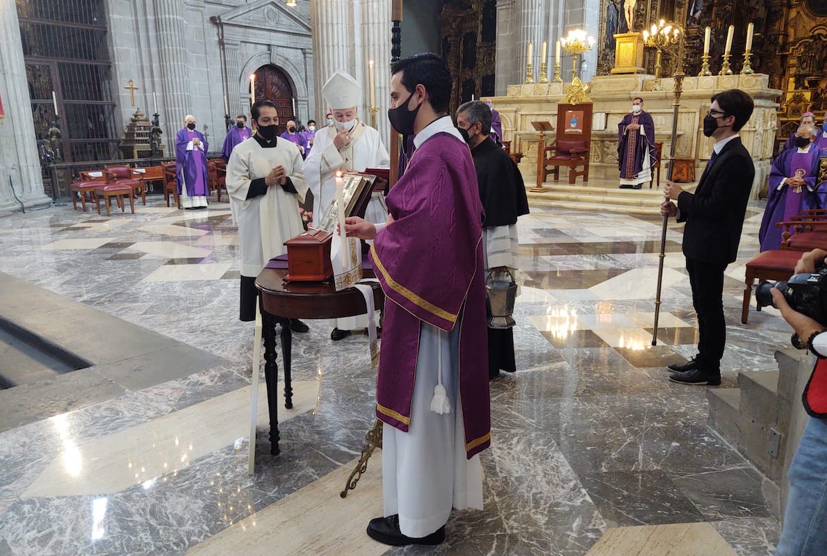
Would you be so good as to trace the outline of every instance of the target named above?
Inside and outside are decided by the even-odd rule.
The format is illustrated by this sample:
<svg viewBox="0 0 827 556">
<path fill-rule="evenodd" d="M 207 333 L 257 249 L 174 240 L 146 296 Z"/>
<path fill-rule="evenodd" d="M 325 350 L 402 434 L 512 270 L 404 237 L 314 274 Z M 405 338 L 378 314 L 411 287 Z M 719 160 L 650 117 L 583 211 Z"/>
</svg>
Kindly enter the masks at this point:
<svg viewBox="0 0 827 556">
<path fill-rule="evenodd" d="M 632 113 L 618 124 L 620 189 L 640 189 L 652 181 L 655 160 L 655 122 L 643 111 L 643 98 L 633 98 Z"/>
</svg>

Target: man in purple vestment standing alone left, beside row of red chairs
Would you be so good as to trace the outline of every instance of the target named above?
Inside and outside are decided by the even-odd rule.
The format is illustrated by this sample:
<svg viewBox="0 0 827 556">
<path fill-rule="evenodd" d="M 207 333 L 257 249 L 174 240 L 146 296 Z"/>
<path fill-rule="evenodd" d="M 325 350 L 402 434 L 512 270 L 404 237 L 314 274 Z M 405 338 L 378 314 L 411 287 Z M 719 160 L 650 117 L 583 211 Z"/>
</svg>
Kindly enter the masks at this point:
<svg viewBox="0 0 827 556">
<path fill-rule="evenodd" d="M 178 194 L 184 209 L 207 207 L 209 144 L 202 132 L 195 129 L 195 117 L 184 118 L 184 126 L 175 136 L 175 169 L 178 172 Z"/>
</svg>

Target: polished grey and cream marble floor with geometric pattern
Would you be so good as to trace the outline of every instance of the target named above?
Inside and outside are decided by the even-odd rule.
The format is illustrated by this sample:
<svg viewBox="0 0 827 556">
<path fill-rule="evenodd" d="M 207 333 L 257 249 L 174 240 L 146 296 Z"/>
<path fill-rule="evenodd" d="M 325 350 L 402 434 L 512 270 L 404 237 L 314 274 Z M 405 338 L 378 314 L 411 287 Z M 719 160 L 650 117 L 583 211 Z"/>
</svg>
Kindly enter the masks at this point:
<svg viewBox="0 0 827 556">
<path fill-rule="evenodd" d="M 776 368 L 789 339 L 772 309 L 740 324 L 761 212 L 749 207 L 727 271 L 722 387 L 740 370 Z M 327 321 L 294 335 L 282 453 L 269 455 L 262 415 L 256 474 L 246 474 L 252 327 L 237 320 L 227 204 L 182 211 L 151 196 L 134 215 L 69 206 L 0 219 L 3 273 L 222 361 L 0 433 L 0 554 L 573 556 L 621 554 L 609 538 L 632 545 L 653 531 L 772 554 L 772 488 L 706 426 L 704 388 L 663 370 L 696 342 L 674 223 L 651 345 L 660 223 L 562 209 L 521 218 L 519 371 L 491 383 L 485 510 L 455 512 L 439 547 L 389 549 L 364 534 L 381 511 L 381 458 L 338 496 L 373 420 L 366 337 L 332 343 Z"/>
</svg>

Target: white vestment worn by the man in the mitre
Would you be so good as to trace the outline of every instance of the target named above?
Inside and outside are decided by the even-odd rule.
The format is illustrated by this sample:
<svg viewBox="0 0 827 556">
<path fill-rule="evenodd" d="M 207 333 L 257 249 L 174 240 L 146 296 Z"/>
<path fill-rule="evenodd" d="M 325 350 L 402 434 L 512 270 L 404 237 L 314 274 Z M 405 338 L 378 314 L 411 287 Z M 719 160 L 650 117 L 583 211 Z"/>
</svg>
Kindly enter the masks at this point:
<svg viewBox="0 0 827 556">
<path fill-rule="evenodd" d="M 337 128 L 334 125 L 323 127 L 316 132 L 313 149 L 304 161 L 304 175 L 313 192 L 313 222 L 322 222 L 324 213 L 336 197 L 336 170 L 356 170 L 366 168 L 390 168 L 390 155 L 373 127 L 354 120 L 351 136 L 354 139 L 349 146 L 339 151 L 333 144 Z M 385 223 L 388 208 L 381 193 L 372 194 L 370 204 L 365 212 L 365 219 L 370 223 Z M 336 319 L 336 328 L 354 330 L 366 328 L 366 315 Z"/>
</svg>

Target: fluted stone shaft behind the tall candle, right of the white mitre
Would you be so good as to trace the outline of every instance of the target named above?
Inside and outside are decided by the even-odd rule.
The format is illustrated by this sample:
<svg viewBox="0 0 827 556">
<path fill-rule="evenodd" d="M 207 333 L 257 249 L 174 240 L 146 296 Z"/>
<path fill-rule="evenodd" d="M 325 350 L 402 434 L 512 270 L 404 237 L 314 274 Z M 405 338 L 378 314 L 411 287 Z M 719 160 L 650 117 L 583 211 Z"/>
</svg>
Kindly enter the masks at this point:
<svg viewBox="0 0 827 556">
<path fill-rule="evenodd" d="M 373 73 L 375 81 L 375 105 L 379 108 L 376 113 L 376 128 L 379 130 L 385 148 L 390 150 L 388 145 L 390 137 L 390 122 L 388 122 L 388 108 L 390 108 L 390 2 L 387 0 L 362 0 L 362 25 L 361 25 L 361 60 L 356 60 L 356 65 L 363 65 L 365 70 L 362 79 L 362 90 L 364 91 L 364 105 L 370 106 L 370 80 L 367 67 L 368 60 L 373 60 Z M 370 114 L 365 111 L 364 120 L 370 123 Z"/>
</svg>

